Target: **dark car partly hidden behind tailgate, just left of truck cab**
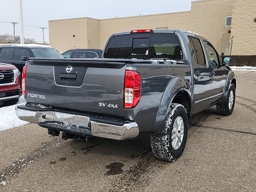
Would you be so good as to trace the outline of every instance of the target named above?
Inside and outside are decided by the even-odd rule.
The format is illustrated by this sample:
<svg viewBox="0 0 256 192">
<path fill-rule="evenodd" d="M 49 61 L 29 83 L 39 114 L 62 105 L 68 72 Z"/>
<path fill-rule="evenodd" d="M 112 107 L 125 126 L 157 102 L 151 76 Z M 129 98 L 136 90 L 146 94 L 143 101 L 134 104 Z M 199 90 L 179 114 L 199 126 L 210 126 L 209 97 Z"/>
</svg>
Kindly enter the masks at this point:
<svg viewBox="0 0 256 192">
<path fill-rule="evenodd" d="M 65 58 L 101 58 L 100 49 L 70 49 L 62 53 Z"/>
</svg>

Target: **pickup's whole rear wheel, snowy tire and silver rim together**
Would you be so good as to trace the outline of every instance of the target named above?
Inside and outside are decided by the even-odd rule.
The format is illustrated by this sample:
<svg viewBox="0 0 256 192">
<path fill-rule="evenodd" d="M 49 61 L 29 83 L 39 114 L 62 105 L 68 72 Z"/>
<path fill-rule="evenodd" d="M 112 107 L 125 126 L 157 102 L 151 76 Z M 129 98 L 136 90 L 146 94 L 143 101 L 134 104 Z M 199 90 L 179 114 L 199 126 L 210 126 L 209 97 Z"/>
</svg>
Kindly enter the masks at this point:
<svg viewBox="0 0 256 192">
<path fill-rule="evenodd" d="M 170 106 L 164 128 L 151 134 L 151 147 L 156 158 L 165 161 L 178 159 L 186 146 L 188 137 L 188 115 L 181 104 Z"/>
</svg>

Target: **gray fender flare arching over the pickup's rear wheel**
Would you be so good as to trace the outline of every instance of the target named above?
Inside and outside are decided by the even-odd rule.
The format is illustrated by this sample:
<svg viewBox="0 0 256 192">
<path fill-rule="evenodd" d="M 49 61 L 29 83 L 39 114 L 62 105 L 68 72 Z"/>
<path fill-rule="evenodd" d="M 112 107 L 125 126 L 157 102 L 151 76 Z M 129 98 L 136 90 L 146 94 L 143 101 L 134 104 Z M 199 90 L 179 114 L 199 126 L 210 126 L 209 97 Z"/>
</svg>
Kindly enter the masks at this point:
<svg viewBox="0 0 256 192">
<path fill-rule="evenodd" d="M 174 99 L 176 94 L 180 91 L 185 91 L 189 94 L 190 106 L 191 106 L 190 84 L 182 76 L 177 76 L 177 77 L 173 78 L 166 86 L 166 89 L 164 90 L 164 93 L 162 95 L 162 98 L 161 98 L 161 101 L 159 104 L 159 108 L 158 108 L 158 112 L 156 115 L 156 129 L 154 132 L 159 132 L 164 127 L 164 122 L 166 120 L 166 116 L 170 109 L 170 105 L 172 104 L 172 100 Z M 187 113 L 190 114 L 190 111 Z"/>
</svg>

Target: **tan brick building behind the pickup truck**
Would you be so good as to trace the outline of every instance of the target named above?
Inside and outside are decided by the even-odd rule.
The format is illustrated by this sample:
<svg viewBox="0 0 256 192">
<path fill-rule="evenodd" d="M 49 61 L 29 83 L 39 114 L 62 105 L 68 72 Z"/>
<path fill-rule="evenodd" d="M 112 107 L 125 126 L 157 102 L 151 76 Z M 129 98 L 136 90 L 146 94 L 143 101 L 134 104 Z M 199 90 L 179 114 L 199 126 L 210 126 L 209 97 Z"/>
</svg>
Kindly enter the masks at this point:
<svg viewBox="0 0 256 192">
<path fill-rule="evenodd" d="M 193 1 L 191 11 L 124 18 L 72 18 L 49 21 L 50 46 L 103 49 L 108 37 L 121 31 L 169 28 L 192 31 L 207 38 L 219 53 L 256 55 L 256 0 Z M 232 22 L 231 22 L 232 20 Z M 230 26 L 231 25 L 231 26 Z"/>
</svg>

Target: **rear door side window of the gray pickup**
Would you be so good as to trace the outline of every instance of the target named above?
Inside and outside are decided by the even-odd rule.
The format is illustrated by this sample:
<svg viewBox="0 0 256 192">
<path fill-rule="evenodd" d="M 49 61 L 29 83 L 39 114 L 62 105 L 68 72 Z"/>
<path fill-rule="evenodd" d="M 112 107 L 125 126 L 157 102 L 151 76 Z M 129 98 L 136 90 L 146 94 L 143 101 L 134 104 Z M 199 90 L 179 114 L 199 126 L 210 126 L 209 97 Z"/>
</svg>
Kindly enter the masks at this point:
<svg viewBox="0 0 256 192">
<path fill-rule="evenodd" d="M 206 64 L 204 59 L 204 52 L 203 52 L 200 40 L 192 37 L 188 37 L 188 39 L 192 46 L 192 52 L 191 52 L 192 57 L 194 57 L 198 65 L 205 66 Z"/>
</svg>

